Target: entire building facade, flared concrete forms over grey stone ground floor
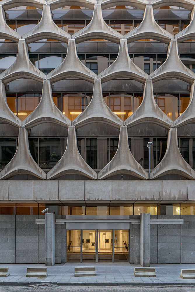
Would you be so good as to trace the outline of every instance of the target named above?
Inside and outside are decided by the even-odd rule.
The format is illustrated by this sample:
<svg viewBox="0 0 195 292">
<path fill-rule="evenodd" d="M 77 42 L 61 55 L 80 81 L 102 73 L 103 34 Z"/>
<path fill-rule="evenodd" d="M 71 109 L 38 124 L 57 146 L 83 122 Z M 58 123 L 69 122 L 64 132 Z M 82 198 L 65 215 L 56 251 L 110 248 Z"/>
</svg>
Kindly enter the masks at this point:
<svg viewBox="0 0 195 292">
<path fill-rule="evenodd" d="M 0 4 L 0 263 L 195 263 L 194 0 Z"/>
</svg>

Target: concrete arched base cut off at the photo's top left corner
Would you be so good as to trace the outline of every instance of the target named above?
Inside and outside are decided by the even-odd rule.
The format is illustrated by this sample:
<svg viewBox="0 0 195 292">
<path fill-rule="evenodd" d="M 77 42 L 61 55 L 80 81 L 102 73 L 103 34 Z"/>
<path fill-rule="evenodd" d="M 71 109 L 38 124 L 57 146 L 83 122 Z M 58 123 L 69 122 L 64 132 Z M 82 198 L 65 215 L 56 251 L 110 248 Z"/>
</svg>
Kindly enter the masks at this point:
<svg viewBox="0 0 195 292">
<path fill-rule="evenodd" d="M 5 10 L 18 7 L 18 6 L 33 6 L 42 9 L 46 0 L 1 0 L 1 5 Z"/>
</svg>

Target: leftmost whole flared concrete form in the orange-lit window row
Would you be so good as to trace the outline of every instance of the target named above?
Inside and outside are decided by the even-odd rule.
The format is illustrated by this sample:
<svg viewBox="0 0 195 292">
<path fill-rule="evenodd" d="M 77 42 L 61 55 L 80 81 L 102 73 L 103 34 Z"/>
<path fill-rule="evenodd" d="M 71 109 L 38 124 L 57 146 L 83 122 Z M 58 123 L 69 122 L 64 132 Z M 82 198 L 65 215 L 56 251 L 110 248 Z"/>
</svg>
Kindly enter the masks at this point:
<svg viewBox="0 0 195 292">
<path fill-rule="evenodd" d="M 43 81 L 42 97 L 36 109 L 22 122 L 27 129 L 41 123 L 55 123 L 61 126 L 71 126 L 71 121 L 55 106 L 52 97 L 51 83 Z"/>
</svg>

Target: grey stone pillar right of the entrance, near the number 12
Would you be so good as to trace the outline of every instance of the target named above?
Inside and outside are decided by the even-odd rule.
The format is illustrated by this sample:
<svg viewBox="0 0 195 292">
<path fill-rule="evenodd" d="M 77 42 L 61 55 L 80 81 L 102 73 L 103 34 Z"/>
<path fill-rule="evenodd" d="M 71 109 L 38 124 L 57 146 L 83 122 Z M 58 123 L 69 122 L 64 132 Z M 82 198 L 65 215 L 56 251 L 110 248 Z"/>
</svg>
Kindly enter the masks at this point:
<svg viewBox="0 0 195 292">
<path fill-rule="evenodd" d="M 150 213 L 140 215 L 140 264 L 150 266 Z"/>
</svg>

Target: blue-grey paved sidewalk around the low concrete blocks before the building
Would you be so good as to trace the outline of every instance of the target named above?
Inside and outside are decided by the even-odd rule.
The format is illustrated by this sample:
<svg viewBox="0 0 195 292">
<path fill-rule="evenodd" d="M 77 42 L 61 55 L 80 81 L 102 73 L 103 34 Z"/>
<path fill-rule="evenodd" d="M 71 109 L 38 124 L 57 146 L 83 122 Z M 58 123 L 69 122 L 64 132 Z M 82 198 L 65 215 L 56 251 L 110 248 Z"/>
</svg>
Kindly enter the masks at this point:
<svg viewBox="0 0 195 292">
<path fill-rule="evenodd" d="M 195 268 L 195 264 L 166 264 L 151 265 L 156 268 L 154 277 L 134 277 L 134 267 L 126 263 L 65 263 L 48 267 L 46 278 L 26 277 L 27 267 L 44 267 L 44 264 L 0 264 L 0 267 L 9 267 L 10 275 L 0 278 L 1 285 L 33 285 L 38 283 L 51 283 L 53 285 L 74 286 L 195 286 L 195 279 L 184 280 L 180 278 L 182 268 Z M 95 266 L 96 277 L 74 277 L 75 266 Z M 195 290 L 194 290 L 195 291 Z"/>
</svg>

